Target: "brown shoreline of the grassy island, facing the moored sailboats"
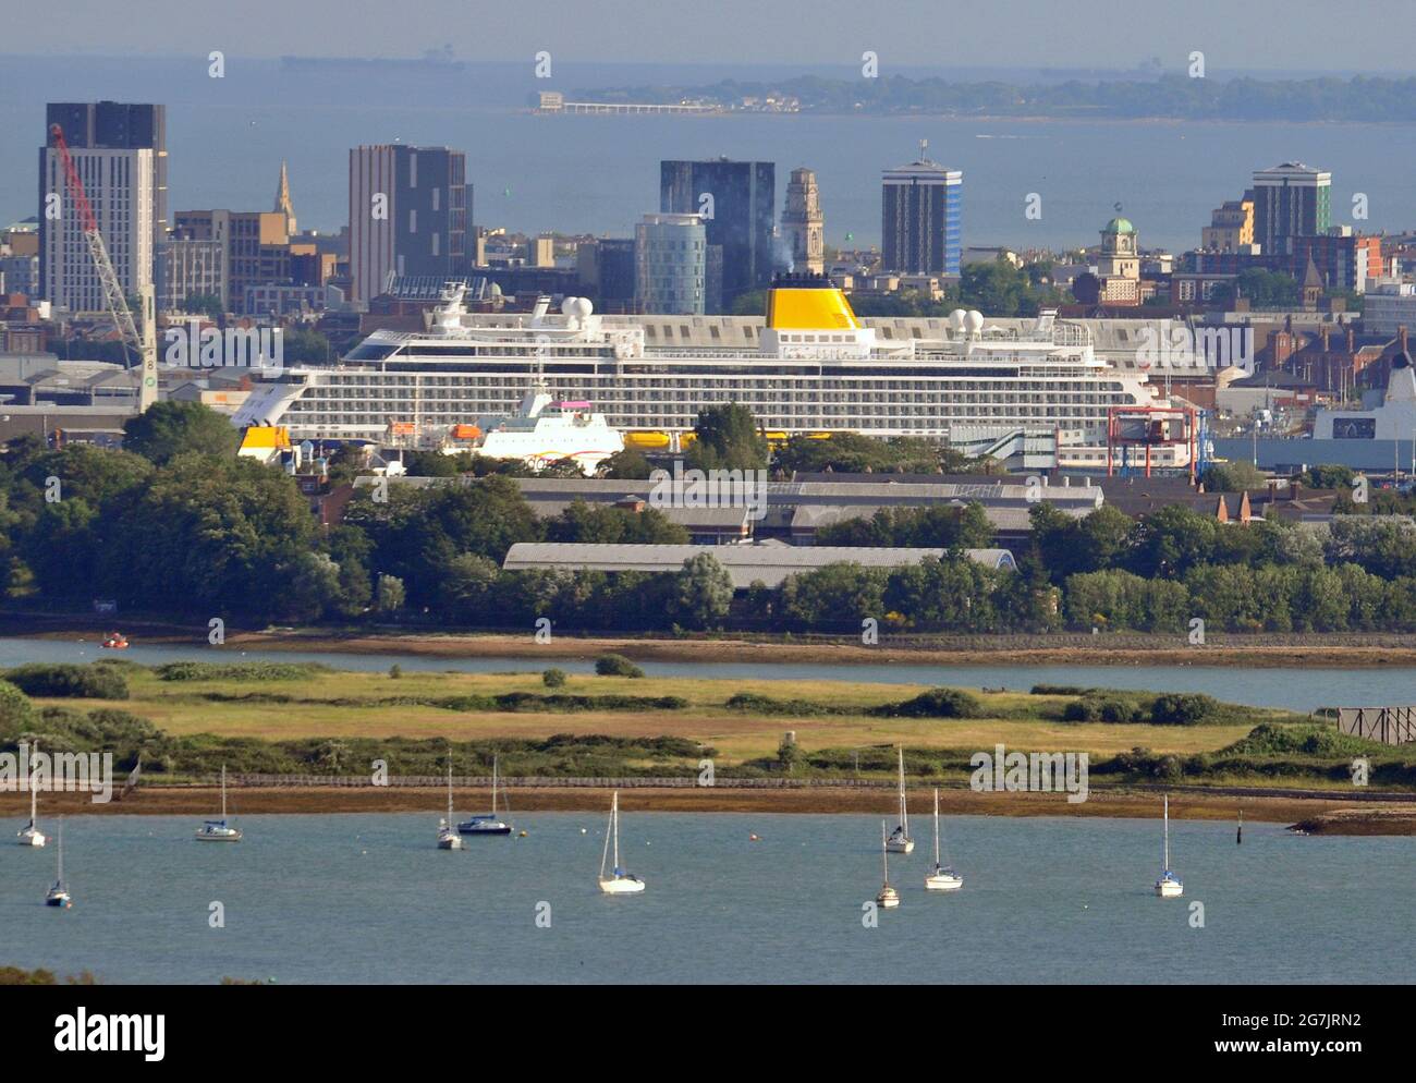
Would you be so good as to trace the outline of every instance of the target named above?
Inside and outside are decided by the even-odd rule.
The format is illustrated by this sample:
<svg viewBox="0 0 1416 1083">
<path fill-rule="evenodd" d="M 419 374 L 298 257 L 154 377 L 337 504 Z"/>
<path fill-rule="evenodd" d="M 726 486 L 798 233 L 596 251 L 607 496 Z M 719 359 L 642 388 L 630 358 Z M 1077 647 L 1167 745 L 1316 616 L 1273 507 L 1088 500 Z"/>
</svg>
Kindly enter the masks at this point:
<svg viewBox="0 0 1416 1083">
<path fill-rule="evenodd" d="M 515 810 L 528 813 L 595 813 L 609 804 L 609 787 L 513 787 Z M 212 786 L 139 787 L 126 800 L 93 804 L 88 794 L 45 794 L 42 820 L 67 815 L 195 815 L 208 817 L 219 804 Z M 426 813 L 438 814 L 446 800 L 440 787 L 263 787 L 228 790 L 236 815 L 341 813 Z M 480 808 L 487 801 L 481 787 L 455 790 L 462 808 Z M 633 813 L 784 813 L 784 814 L 879 814 L 893 807 L 889 790 L 814 786 L 790 790 L 726 787 L 630 787 L 620 790 L 620 807 Z M 910 811 L 927 815 L 930 793 L 909 791 Z M 1092 791 L 1086 801 L 1069 804 L 1062 793 L 976 793 L 964 789 L 939 791 L 944 815 L 1157 818 L 1157 794 L 1143 791 Z M 1416 835 L 1416 806 L 1358 803 L 1341 797 L 1236 797 L 1195 790 L 1170 791 L 1171 815 L 1178 820 L 1235 823 L 1239 813 L 1249 823 L 1294 825 L 1324 835 Z M 0 818 L 28 815 L 28 797 L 0 794 Z"/>
</svg>

